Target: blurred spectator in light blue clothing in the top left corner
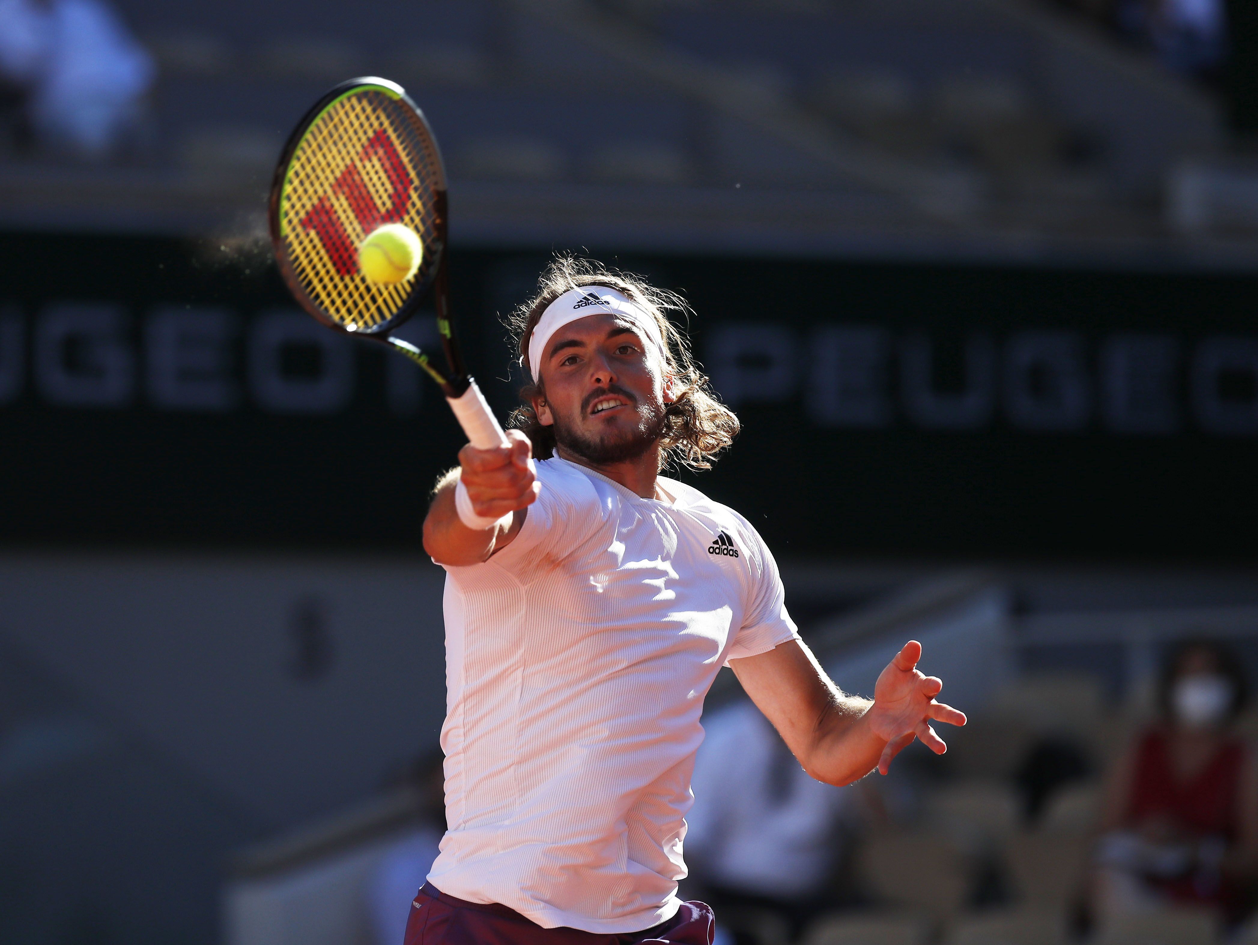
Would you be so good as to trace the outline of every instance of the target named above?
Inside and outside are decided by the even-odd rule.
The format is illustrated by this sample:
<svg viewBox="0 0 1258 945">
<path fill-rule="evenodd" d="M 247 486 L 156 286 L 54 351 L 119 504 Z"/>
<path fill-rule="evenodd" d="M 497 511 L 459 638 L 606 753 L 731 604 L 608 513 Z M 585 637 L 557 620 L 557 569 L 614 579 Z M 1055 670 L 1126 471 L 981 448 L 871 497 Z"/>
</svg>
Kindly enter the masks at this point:
<svg viewBox="0 0 1258 945">
<path fill-rule="evenodd" d="M 153 72 L 102 0 L 0 0 L 0 75 L 53 150 L 112 153 L 137 124 Z"/>
</svg>

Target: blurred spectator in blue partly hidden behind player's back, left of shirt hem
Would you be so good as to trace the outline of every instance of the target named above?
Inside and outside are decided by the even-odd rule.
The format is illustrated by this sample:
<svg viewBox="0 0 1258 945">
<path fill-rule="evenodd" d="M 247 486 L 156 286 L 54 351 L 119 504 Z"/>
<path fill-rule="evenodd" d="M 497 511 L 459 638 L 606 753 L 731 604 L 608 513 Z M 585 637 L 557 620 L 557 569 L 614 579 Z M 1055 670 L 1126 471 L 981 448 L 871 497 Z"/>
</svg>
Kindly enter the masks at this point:
<svg viewBox="0 0 1258 945">
<path fill-rule="evenodd" d="M 438 751 L 411 769 L 406 780 L 416 792 L 419 823 L 394 843 L 367 877 L 364 892 L 379 945 L 399 945 L 406 937 L 410 904 L 428 878 L 445 836 L 444 760 Z"/>
</svg>

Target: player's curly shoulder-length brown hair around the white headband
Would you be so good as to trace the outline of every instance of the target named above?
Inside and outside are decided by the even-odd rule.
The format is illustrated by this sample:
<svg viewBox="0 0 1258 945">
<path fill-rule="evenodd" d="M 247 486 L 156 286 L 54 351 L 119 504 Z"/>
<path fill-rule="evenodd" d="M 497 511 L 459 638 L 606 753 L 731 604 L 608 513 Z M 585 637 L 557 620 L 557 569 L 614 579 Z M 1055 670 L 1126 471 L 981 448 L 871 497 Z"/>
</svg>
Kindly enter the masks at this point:
<svg viewBox="0 0 1258 945">
<path fill-rule="evenodd" d="M 591 259 L 556 256 L 538 278 L 537 293 L 506 319 L 525 376 L 532 377 L 528 337 L 538 319 L 547 305 L 579 285 L 616 289 L 654 315 L 667 348 L 664 369 L 677 385 L 677 398 L 664 410 L 659 467 L 664 470 L 677 464 L 689 469 L 711 469 L 717 454 L 737 436 L 738 418 L 717 400 L 707 376 L 691 354 L 689 342 L 668 318 L 671 312 L 682 318 L 691 315 L 689 305 L 676 292 L 657 289 L 640 275 L 608 269 Z M 555 429 L 543 426 L 532 407 L 532 398 L 545 397 L 545 391 L 540 383 L 527 383 L 520 396 L 525 403 L 512 412 L 509 422 L 532 441 L 533 455 L 550 459 L 555 455 Z"/>
</svg>

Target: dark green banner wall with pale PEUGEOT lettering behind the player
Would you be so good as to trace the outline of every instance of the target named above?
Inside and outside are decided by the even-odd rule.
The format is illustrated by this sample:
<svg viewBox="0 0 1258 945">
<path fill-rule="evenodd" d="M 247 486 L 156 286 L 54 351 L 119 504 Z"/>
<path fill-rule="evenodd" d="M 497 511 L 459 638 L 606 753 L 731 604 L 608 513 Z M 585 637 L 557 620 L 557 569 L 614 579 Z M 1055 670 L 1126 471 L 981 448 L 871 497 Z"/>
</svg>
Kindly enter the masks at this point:
<svg viewBox="0 0 1258 945">
<path fill-rule="evenodd" d="M 121 307 L 127 324 L 118 337 L 133 352 L 137 378 L 118 406 L 67 408 L 49 403 L 34 383 L 5 405 L 0 435 L 9 459 L 0 478 L 5 494 L 21 499 L 0 522 L 0 538 L 224 549 L 418 548 L 425 488 L 459 445 L 452 417 L 435 388 L 420 388 L 416 412 L 398 416 L 389 406 L 386 352 L 361 342 L 345 342 L 356 376 L 343 406 L 316 416 L 259 406 L 244 371 L 249 320 L 259 310 L 292 308 L 263 250 L 21 234 L 4 238 L 0 251 L 3 305 L 20 313 L 28 329 L 58 303 Z M 893 347 L 883 382 L 891 408 L 884 426 L 824 425 L 808 410 L 815 395 L 806 380 L 786 387 L 756 383 L 776 367 L 766 358 L 781 356 L 738 354 L 735 363 L 751 372 L 735 403 L 743 431 L 713 472 L 692 481 L 736 508 L 755 508 L 757 527 L 784 555 L 1253 559 L 1255 430 L 1203 430 L 1189 381 L 1194 344 L 1245 338 L 1252 330 L 1253 276 L 589 254 L 684 294 L 696 312 L 689 324 L 696 352 L 716 373 L 718 390 L 725 362 L 712 364 L 708 339 L 731 323 L 789 325 L 799 342 L 788 356 L 795 362 L 789 369 L 805 378 L 809 332 L 820 325 L 881 328 L 892 346 L 925 332 L 932 342 L 932 383 L 941 392 L 964 386 L 964 346 L 976 333 L 998 346 L 1027 330 L 1077 338 L 1088 405 L 1077 429 L 1066 431 L 1019 429 L 1000 410 L 999 396 L 990 420 L 975 429 L 922 429 L 897 403 Z M 72 265 L 59 265 L 65 260 Z M 504 380 L 511 352 L 501 315 L 526 297 L 530 275 L 546 260 L 543 253 L 509 250 L 453 256 L 452 292 L 469 359 L 501 413 L 520 386 L 518 367 Z M 225 307 L 244 319 L 225 367 L 242 388 L 238 406 L 198 415 L 162 410 L 146 397 L 143 320 L 172 300 Z M 1177 343 L 1167 386 L 1177 430 L 1107 429 L 1098 352 L 1116 333 Z M 31 348 L 33 342 L 28 358 Z M 321 371 L 309 344 L 292 343 L 287 357 L 282 369 L 293 377 Z M 84 362 L 78 369 L 91 374 L 96 368 Z M 1243 406 L 1253 397 L 1254 378 L 1243 364 L 1223 372 L 1220 398 Z"/>
</svg>

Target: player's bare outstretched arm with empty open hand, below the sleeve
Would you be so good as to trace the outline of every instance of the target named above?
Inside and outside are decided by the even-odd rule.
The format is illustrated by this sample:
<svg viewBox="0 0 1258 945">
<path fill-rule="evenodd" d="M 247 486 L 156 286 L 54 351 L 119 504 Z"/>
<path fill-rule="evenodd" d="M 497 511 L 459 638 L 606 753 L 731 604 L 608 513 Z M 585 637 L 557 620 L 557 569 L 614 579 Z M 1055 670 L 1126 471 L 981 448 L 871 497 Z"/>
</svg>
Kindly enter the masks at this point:
<svg viewBox="0 0 1258 945">
<path fill-rule="evenodd" d="M 800 641 L 730 666 L 804 770 L 828 784 L 850 784 L 874 768 L 886 774 L 915 738 L 944 754 L 932 721 L 965 725 L 962 713 L 935 701 L 944 684 L 917 670 L 921 657 L 921 643 L 905 643 L 878 676 L 873 701 L 844 695 Z"/>
</svg>

